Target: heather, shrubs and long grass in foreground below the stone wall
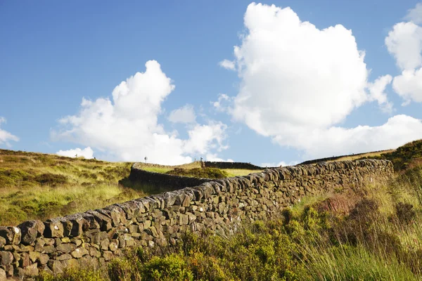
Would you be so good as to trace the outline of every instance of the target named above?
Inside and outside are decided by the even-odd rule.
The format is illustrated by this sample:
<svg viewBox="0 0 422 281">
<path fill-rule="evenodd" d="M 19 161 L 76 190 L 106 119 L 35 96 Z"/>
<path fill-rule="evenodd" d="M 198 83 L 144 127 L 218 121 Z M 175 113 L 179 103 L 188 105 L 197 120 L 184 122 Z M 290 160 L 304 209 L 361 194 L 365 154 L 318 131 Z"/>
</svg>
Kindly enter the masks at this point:
<svg viewBox="0 0 422 281">
<path fill-rule="evenodd" d="M 422 280 L 421 150 L 408 147 L 391 159 L 412 164 L 389 183 L 305 197 L 233 235 L 186 233 L 173 246 L 128 251 L 108 270 L 39 280 Z"/>
</svg>

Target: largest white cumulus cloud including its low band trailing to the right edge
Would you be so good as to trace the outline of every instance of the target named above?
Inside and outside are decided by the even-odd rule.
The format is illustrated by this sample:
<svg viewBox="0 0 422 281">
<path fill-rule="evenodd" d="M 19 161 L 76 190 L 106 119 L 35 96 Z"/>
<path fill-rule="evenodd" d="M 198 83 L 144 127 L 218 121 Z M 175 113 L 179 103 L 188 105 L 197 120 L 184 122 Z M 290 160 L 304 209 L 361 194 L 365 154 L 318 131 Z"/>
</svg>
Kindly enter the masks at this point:
<svg viewBox="0 0 422 281">
<path fill-rule="evenodd" d="M 319 30 L 290 8 L 252 3 L 246 34 L 234 47 L 241 84 L 228 112 L 262 136 L 304 150 L 308 157 L 395 148 L 422 137 L 420 120 L 396 116 L 376 126 L 338 126 L 355 108 L 371 101 L 392 109 L 385 87 L 392 77 L 368 81 L 364 51 L 351 30 Z M 396 46 L 404 65 L 409 63 Z M 221 107 L 221 98 L 215 107 Z M 397 135 L 395 135 L 397 133 Z"/>
</svg>

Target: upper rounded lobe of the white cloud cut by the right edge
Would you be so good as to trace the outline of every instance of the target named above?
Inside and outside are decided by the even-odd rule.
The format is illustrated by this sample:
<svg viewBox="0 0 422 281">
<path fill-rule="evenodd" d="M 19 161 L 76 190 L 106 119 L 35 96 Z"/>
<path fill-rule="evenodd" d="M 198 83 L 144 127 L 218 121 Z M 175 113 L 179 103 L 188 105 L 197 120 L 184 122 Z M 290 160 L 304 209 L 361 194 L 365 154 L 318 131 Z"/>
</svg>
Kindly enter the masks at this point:
<svg viewBox="0 0 422 281">
<path fill-rule="evenodd" d="M 422 27 L 413 22 L 399 22 L 385 37 L 388 51 L 402 70 L 413 70 L 422 65 Z"/>
</svg>

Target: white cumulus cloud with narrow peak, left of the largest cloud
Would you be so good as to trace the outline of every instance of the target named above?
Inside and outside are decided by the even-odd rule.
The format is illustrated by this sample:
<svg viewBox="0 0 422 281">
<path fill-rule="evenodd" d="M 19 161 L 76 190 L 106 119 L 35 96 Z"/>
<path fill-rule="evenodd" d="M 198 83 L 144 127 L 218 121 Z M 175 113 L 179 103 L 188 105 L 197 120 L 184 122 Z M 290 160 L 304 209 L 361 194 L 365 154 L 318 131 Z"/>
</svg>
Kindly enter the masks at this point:
<svg viewBox="0 0 422 281">
<path fill-rule="evenodd" d="M 160 64 L 150 60 L 145 72 L 137 72 L 115 87 L 111 100 L 83 98 L 76 115 L 60 119 L 53 138 L 87 145 L 113 159 L 148 157 L 148 162 L 160 164 L 191 162 L 191 156 L 198 156 L 194 153 L 224 149 L 226 126 L 222 123 L 198 124 L 188 131 L 186 140 L 158 123 L 162 102 L 173 89 Z"/>
</svg>

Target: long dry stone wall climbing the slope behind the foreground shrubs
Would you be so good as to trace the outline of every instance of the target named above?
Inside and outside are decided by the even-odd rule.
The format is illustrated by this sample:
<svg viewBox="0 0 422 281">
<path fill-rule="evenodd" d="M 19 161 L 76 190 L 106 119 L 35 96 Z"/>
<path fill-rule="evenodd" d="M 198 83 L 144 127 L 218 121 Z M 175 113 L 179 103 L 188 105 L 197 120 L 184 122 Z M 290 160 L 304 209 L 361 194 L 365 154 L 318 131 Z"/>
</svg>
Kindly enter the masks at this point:
<svg viewBox="0 0 422 281">
<path fill-rule="evenodd" d="M 267 169 L 83 214 L 0 227 L 0 280 L 31 277 L 39 270 L 101 266 L 125 248 L 175 243 L 186 230 L 230 233 L 237 223 L 271 218 L 305 195 L 359 188 L 392 173 L 386 160 Z"/>
</svg>

